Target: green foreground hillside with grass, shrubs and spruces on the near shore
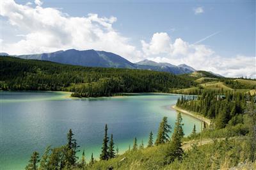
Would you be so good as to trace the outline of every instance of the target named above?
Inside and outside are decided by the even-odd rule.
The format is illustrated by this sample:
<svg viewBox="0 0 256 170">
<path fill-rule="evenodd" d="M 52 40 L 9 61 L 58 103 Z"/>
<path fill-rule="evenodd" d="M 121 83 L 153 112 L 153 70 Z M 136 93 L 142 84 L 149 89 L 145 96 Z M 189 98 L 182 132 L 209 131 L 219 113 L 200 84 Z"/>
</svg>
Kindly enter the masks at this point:
<svg viewBox="0 0 256 170">
<path fill-rule="evenodd" d="M 198 102 L 206 96 L 191 101 Z M 232 98 L 238 96 L 232 94 Z M 180 101 L 189 102 L 184 99 Z M 220 101 L 225 103 L 224 100 Z M 93 155 L 90 160 L 85 158 L 84 151 L 80 159 L 76 157 L 79 146 L 70 130 L 67 144 L 60 148 L 48 147 L 41 158 L 39 153 L 34 152 L 26 169 L 227 169 L 241 166 L 244 169 L 255 169 L 256 105 L 253 97 L 250 101 L 246 100 L 241 114 L 243 121 L 235 125 L 228 121 L 224 128 L 212 125 L 200 133 L 196 132 L 194 126 L 187 137 L 184 137 L 180 113 L 173 128 L 164 117 L 159 124 L 156 141 L 153 141 L 152 132 L 147 146 L 138 144 L 135 137 L 132 148 L 122 155 L 115 149 L 113 134 L 109 140 L 106 125 L 99 160 L 95 160 Z M 236 114 L 230 115 L 232 117 Z"/>
</svg>

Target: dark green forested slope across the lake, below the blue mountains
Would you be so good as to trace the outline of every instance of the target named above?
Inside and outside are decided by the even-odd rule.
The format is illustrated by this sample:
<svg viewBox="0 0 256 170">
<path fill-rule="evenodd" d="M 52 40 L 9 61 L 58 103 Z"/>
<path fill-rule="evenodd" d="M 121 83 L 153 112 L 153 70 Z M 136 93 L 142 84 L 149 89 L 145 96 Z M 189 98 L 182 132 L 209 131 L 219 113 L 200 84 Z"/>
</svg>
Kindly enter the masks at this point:
<svg viewBox="0 0 256 170">
<path fill-rule="evenodd" d="M 168 92 L 195 82 L 171 73 L 120 68 L 91 68 L 49 61 L 0 58 L 0 89 L 72 91 L 74 97 L 115 93 Z"/>
</svg>

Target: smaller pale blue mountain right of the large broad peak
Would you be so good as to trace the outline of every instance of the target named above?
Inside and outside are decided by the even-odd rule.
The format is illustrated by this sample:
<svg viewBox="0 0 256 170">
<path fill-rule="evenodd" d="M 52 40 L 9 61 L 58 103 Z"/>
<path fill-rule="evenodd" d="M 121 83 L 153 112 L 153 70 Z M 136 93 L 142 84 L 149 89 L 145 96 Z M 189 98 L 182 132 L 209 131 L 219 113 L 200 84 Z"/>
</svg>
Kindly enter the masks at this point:
<svg viewBox="0 0 256 170">
<path fill-rule="evenodd" d="M 171 65 L 170 63 L 157 63 L 155 61 L 150 61 L 145 59 L 143 61 L 139 61 L 135 63 L 138 65 L 138 68 L 146 69 L 146 70 L 156 70 L 159 72 L 171 72 L 174 74 L 183 74 L 183 73 L 192 73 L 195 72 L 195 69 L 191 66 L 187 65 Z"/>
</svg>

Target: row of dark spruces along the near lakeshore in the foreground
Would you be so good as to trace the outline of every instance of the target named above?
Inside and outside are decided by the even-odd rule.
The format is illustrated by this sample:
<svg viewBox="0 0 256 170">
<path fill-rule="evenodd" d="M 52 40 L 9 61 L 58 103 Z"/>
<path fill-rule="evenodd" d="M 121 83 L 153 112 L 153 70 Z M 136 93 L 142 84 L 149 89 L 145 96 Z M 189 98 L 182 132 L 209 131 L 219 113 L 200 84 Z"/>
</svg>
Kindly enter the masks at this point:
<svg viewBox="0 0 256 170">
<path fill-rule="evenodd" d="M 175 121 L 175 127 L 173 129 L 172 137 L 169 137 L 171 132 L 171 126 L 168 125 L 167 117 L 164 117 L 161 121 L 154 143 L 154 137 L 152 131 L 148 137 L 147 148 L 152 146 L 158 146 L 160 144 L 168 144 L 168 149 L 164 151 L 165 164 L 170 164 L 176 158 L 181 160 L 184 151 L 181 148 L 182 137 L 184 137 L 182 117 L 179 113 L 177 115 L 177 120 Z M 45 149 L 44 154 L 40 157 L 37 151 L 34 151 L 29 159 L 29 164 L 26 166 L 26 170 L 60 170 L 60 169 L 90 169 L 90 167 L 97 162 L 95 158 L 90 158 L 90 162 L 86 162 L 84 150 L 81 159 L 77 157 L 77 152 L 79 152 L 79 147 L 77 145 L 76 139 L 74 139 L 74 134 L 70 129 L 67 134 L 67 144 L 60 146 L 58 148 L 51 148 L 48 146 Z M 144 148 L 143 141 L 138 147 L 137 138 L 134 138 L 134 143 L 132 150 L 129 146 L 128 151 L 137 151 Z M 111 134 L 110 140 L 108 137 L 108 125 L 105 125 L 104 138 L 102 142 L 102 148 L 100 153 L 100 161 L 109 160 L 118 156 L 118 147 L 115 149 L 115 143 L 113 141 L 113 134 Z M 109 167 L 111 169 L 111 167 Z"/>
</svg>

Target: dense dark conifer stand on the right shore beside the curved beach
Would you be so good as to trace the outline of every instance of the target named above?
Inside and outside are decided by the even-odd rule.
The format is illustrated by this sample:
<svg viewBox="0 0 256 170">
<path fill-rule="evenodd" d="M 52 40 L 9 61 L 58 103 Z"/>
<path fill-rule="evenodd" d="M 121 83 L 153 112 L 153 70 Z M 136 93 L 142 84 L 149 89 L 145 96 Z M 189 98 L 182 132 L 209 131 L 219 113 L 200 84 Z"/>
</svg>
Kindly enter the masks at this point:
<svg viewBox="0 0 256 170">
<path fill-rule="evenodd" d="M 203 91 L 198 97 L 184 97 L 177 100 L 177 107 L 198 112 L 214 120 L 216 128 L 243 123 L 246 103 L 255 99 L 255 95 L 236 91 Z"/>
</svg>

